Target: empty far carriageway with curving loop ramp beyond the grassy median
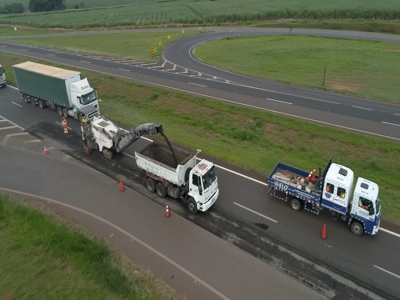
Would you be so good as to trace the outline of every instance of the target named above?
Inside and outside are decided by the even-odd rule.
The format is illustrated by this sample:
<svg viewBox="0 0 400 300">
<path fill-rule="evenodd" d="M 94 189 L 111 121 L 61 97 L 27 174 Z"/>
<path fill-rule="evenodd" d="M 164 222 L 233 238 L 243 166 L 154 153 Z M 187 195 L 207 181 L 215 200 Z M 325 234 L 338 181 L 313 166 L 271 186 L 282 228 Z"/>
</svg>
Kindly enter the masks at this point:
<svg viewBox="0 0 400 300">
<path fill-rule="evenodd" d="M 168 45 L 163 51 L 163 60 L 160 63 L 36 48 L 7 42 L 0 42 L 0 49 L 400 140 L 400 130 L 398 130 L 400 105 L 241 76 L 201 63 L 192 56 L 192 49 L 196 44 L 212 38 L 286 34 L 287 29 L 209 28 L 208 30 L 212 31 L 180 39 Z M 120 32 L 132 32 L 132 30 Z M 400 41 L 396 35 L 351 31 L 293 29 L 291 34 Z"/>
</svg>

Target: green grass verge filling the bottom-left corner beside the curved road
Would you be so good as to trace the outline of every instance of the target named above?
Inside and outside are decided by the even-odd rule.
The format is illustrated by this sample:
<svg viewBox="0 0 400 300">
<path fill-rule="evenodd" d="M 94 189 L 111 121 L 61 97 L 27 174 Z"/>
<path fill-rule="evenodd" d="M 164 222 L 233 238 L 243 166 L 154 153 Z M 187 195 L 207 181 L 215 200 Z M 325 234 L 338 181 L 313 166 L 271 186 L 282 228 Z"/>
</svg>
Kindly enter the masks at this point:
<svg viewBox="0 0 400 300">
<path fill-rule="evenodd" d="M 179 299 L 148 270 L 59 218 L 0 195 L 1 299 Z"/>
</svg>

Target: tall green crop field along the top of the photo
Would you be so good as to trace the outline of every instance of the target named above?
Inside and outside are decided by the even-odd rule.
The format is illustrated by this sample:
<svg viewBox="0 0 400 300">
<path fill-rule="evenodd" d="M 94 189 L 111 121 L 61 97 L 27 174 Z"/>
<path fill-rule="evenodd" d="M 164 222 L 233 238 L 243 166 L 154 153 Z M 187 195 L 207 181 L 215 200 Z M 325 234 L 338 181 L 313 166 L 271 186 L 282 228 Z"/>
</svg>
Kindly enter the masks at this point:
<svg viewBox="0 0 400 300">
<path fill-rule="evenodd" d="M 67 1 L 68 7 L 80 0 Z M 84 1 L 83 1 L 84 2 Z M 400 18 L 396 0 L 173 0 L 130 1 L 120 6 L 109 1 L 87 2 L 83 9 L 0 15 L 0 23 L 35 27 L 117 27 L 159 24 L 251 23 L 275 19 L 389 19 Z M 118 2 L 112 2 L 114 5 Z M 122 4 L 122 3 L 121 3 Z M 72 5 L 72 6 L 69 6 Z M 94 6 L 95 5 L 95 6 Z"/>
</svg>

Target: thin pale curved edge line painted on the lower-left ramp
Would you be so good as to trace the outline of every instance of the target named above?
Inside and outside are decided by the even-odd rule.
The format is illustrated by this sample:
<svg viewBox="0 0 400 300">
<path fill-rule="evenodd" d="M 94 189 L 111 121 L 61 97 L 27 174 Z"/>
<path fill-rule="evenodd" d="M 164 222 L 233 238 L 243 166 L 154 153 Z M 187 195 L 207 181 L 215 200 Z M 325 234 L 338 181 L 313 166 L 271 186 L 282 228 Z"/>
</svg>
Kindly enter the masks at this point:
<svg viewBox="0 0 400 300">
<path fill-rule="evenodd" d="M 137 238 L 136 236 L 130 234 L 129 232 L 127 232 L 126 230 L 122 229 L 121 227 L 118 227 L 117 225 L 111 223 L 110 221 L 107 221 L 106 219 L 95 215 L 94 213 L 91 213 L 89 211 L 83 210 L 79 207 L 76 206 L 72 206 L 70 204 L 66 204 L 63 202 L 59 202 L 57 200 L 53 200 L 50 198 L 46 198 L 46 197 L 42 197 L 39 195 L 35 195 L 35 194 L 31 194 L 31 193 L 27 193 L 27 192 L 23 192 L 23 191 L 19 191 L 19 190 L 14 190 L 14 189 L 9 189 L 9 188 L 4 188 L 4 187 L 0 187 L 0 190 L 4 190 L 4 191 L 9 191 L 9 192 L 14 192 L 14 193 L 18 193 L 18 194 L 22 194 L 22 195 L 26 195 L 26 196 L 30 196 L 30 197 L 37 197 L 39 199 L 48 201 L 48 202 L 53 202 L 71 209 L 74 209 L 76 211 L 79 211 L 81 213 L 87 214 L 101 222 L 106 223 L 107 225 L 115 228 L 116 230 L 118 230 L 119 232 L 125 234 L 126 236 L 130 237 L 131 239 L 135 240 L 136 242 L 138 242 L 139 244 L 141 244 L 142 246 L 146 247 L 148 250 L 152 251 L 153 253 L 155 253 L 156 255 L 160 256 L 161 258 L 165 259 L 167 262 L 169 262 L 170 264 L 172 264 L 173 266 L 175 266 L 176 268 L 178 268 L 179 270 L 181 270 L 182 272 L 184 272 L 185 274 L 189 275 L 190 277 L 192 277 L 194 280 L 196 280 L 197 282 L 201 283 L 202 285 L 204 285 L 206 288 L 208 288 L 210 291 L 212 291 L 213 293 L 215 293 L 216 295 L 218 295 L 219 297 L 221 297 L 224 300 L 229 300 L 229 298 L 227 296 L 225 296 L 224 294 L 222 294 L 221 292 L 219 292 L 218 290 L 216 290 L 215 288 L 213 288 L 211 285 L 207 284 L 205 281 L 201 280 L 199 277 L 197 277 L 196 275 L 194 275 L 193 273 L 191 273 L 190 271 L 186 270 L 183 266 L 179 265 L 178 263 L 176 263 L 175 261 L 173 261 L 172 259 L 170 259 L 169 257 L 165 256 L 164 254 L 162 254 L 161 252 L 157 251 L 156 249 L 154 249 L 153 247 L 151 247 L 150 245 L 146 244 L 144 241 L 140 240 L 139 238 Z"/>
</svg>

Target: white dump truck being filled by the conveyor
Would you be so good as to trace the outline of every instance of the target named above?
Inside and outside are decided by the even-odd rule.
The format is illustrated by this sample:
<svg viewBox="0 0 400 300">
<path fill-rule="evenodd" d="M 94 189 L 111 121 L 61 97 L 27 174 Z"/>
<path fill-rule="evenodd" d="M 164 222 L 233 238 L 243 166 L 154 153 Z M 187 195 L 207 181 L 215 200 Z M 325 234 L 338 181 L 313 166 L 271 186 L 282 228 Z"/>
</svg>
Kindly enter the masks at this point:
<svg viewBox="0 0 400 300">
<path fill-rule="evenodd" d="M 150 192 L 163 198 L 180 198 L 190 213 L 206 211 L 219 195 L 215 165 L 205 159 L 197 162 L 200 150 L 184 149 L 154 140 L 135 152 L 136 164 L 145 172 Z"/>
</svg>

